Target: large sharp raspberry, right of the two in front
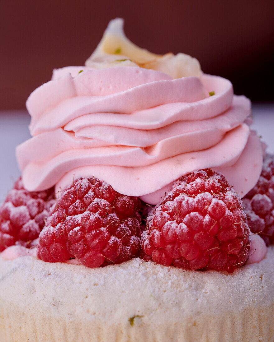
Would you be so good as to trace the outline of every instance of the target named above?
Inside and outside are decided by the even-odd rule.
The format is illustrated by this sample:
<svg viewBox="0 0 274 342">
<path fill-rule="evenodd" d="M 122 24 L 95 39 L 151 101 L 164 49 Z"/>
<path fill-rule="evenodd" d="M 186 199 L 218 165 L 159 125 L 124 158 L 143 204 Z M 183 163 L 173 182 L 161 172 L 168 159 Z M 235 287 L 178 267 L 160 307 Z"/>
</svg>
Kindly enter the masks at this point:
<svg viewBox="0 0 274 342">
<path fill-rule="evenodd" d="M 250 248 L 241 199 L 211 169 L 187 174 L 156 208 L 141 247 L 146 261 L 232 273 L 246 262 Z"/>
</svg>

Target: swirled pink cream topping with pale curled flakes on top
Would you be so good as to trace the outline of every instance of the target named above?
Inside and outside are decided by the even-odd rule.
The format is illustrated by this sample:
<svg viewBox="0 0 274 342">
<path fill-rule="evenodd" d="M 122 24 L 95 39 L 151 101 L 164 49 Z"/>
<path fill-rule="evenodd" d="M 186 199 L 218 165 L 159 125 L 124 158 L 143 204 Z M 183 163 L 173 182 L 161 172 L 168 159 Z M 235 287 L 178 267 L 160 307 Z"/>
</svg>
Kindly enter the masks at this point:
<svg viewBox="0 0 274 342">
<path fill-rule="evenodd" d="M 29 96 L 33 137 L 16 150 L 24 186 L 59 189 L 95 176 L 156 204 L 178 177 L 211 167 L 244 196 L 263 155 L 245 123 L 250 101 L 203 75 L 195 58 L 136 47 L 122 26 L 110 23 L 86 66 L 54 70 Z"/>
</svg>

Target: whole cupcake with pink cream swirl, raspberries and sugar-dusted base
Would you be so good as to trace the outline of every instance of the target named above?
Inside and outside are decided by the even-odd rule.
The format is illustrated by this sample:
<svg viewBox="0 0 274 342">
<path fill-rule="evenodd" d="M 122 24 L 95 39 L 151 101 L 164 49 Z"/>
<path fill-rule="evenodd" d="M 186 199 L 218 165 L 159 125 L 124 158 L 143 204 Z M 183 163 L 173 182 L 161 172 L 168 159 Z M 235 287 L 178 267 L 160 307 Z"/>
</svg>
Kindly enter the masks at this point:
<svg viewBox="0 0 274 342">
<path fill-rule="evenodd" d="M 0 209 L 4 341 L 273 341 L 274 159 L 231 82 L 115 19 L 26 106 Z"/>
</svg>

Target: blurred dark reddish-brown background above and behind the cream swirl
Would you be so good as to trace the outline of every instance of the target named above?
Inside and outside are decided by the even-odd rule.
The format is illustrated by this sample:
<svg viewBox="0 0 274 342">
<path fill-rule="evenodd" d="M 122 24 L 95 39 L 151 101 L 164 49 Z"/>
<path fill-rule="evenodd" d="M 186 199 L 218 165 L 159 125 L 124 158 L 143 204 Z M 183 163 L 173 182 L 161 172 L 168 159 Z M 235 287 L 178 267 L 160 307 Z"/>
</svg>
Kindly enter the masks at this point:
<svg viewBox="0 0 274 342">
<path fill-rule="evenodd" d="M 188 53 L 204 72 L 229 78 L 235 93 L 274 100 L 274 1 L 4 0 L 0 109 L 24 108 L 53 68 L 83 65 L 117 16 L 140 47 Z"/>
</svg>

